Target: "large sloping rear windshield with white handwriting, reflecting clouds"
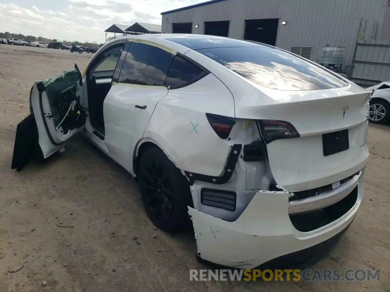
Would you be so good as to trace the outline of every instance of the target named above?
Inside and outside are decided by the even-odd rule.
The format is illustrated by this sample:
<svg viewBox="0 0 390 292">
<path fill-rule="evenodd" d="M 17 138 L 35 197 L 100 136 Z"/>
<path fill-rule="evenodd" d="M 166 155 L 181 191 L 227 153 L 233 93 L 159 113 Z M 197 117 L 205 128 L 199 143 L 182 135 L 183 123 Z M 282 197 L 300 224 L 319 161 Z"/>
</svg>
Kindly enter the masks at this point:
<svg viewBox="0 0 390 292">
<path fill-rule="evenodd" d="M 268 47 L 198 49 L 246 79 L 276 90 L 317 90 L 346 86 L 333 74 L 301 58 Z"/>
</svg>

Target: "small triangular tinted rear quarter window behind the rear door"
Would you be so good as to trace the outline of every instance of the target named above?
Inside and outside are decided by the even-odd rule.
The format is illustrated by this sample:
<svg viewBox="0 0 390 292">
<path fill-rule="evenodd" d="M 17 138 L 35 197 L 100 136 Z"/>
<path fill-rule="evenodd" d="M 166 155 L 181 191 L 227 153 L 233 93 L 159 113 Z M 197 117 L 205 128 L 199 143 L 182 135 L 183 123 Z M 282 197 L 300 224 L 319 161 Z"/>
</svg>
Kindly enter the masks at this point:
<svg viewBox="0 0 390 292">
<path fill-rule="evenodd" d="M 197 65 L 176 55 L 165 80 L 165 86 L 182 86 L 203 74 L 205 72 Z"/>
</svg>

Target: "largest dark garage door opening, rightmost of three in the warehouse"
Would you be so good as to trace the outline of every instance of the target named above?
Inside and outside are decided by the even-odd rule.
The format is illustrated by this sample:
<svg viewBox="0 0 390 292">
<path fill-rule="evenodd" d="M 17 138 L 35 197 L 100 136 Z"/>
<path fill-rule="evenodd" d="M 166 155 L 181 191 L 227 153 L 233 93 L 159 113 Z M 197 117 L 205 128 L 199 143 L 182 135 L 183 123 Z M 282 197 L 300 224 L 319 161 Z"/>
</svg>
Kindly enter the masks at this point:
<svg viewBox="0 0 390 292">
<path fill-rule="evenodd" d="M 244 39 L 275 46 L 279 18 L 245 20 Z"/>
</svg>

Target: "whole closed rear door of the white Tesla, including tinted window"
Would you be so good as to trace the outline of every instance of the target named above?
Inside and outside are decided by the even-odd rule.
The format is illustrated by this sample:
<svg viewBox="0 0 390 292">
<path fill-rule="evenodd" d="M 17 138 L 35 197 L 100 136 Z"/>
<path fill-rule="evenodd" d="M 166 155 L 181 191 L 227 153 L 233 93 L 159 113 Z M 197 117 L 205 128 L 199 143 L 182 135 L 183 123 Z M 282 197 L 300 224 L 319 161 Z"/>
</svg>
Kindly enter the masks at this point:
<svg viewBox="0 0 390 292">
<path fill-rule="evenodd" d="M 164 46 L 137 40 L 126 47 L 119 76 L 103 104 L 105 144 L 110 156 L 133 173 L 133 152 L 143 137 L 164 86 L 174 53 Z M 116 72 L 117 70 L 115 70 Z"/>
</svg>

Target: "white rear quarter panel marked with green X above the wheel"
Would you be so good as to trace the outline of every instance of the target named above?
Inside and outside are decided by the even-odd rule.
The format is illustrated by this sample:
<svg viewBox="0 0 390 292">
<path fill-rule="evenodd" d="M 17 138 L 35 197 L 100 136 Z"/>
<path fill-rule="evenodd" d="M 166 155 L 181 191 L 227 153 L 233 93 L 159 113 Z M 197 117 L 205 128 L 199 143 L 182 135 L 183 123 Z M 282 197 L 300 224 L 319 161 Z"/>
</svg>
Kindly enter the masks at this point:
<svg viewBox="0 0 390 292">
<path fill-rule="evenodd" d="M 233 141 L 220 139 L 206 113 L 234 117 L 233 96 L 213 74 L 168 90 L 145 130 L 183 171 L 220 176 Z M 218 149 L 218 151 L 214 151 Z"/>
</svg>

